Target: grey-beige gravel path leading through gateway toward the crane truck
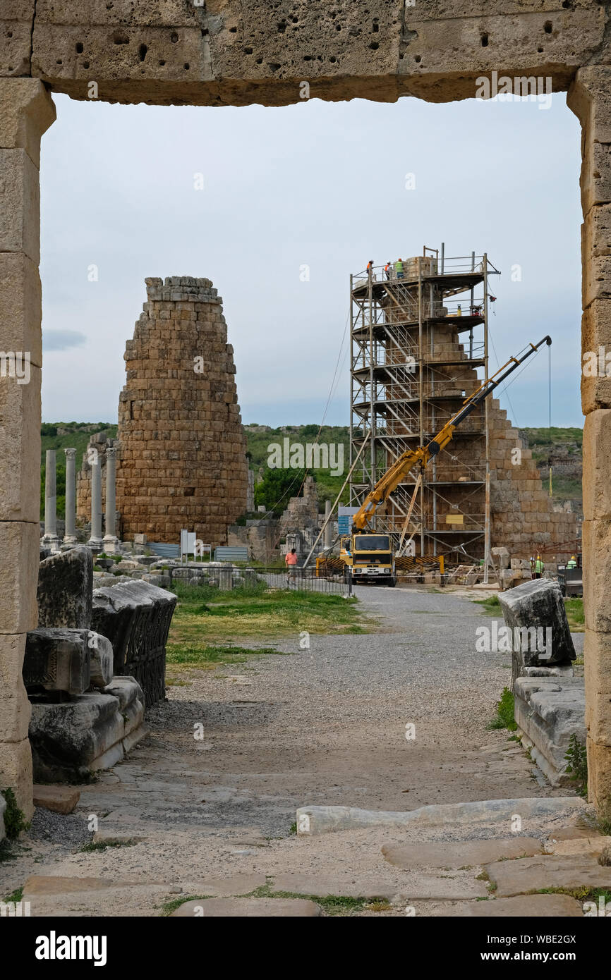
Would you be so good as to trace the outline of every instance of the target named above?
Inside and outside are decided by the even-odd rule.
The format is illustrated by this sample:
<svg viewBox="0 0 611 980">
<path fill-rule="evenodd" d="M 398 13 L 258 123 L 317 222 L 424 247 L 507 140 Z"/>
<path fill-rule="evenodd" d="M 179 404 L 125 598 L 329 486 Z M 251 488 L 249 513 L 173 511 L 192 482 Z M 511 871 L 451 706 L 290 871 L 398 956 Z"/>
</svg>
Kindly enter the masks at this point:
<svg viewBox="0 0 611 980">
<path fill-rule="evenodd" d="M 274 644 L 291 656 L 175 672 L 181 683 L 148 716 L 151 736 L 82 788 L 70 839 L 67 818 L 37 819 L 31 852 L 0 866 L 2 891 L 28 873 L 158 883 L 262 869 L 320 874 L 331 864 L 374 873 L 389 832 L 298 840 L 295 810 L 566 795 L 537 784 L 507 731 L 487 730 L 510 662 L 476 652 L 477 627 L 491 623 L 482 607 L 449 592 L 356 594 L 376 632 L 311 635 L 309 649 L 295 635 Z M 415 738 L 406 739 L 406 725 Z M 142 843 L 75 851 L 76 823 L 90 814 L 105 833 Z M 394 881 L 399 872 L 383 863 L 384 880 Z"/>
</svg>

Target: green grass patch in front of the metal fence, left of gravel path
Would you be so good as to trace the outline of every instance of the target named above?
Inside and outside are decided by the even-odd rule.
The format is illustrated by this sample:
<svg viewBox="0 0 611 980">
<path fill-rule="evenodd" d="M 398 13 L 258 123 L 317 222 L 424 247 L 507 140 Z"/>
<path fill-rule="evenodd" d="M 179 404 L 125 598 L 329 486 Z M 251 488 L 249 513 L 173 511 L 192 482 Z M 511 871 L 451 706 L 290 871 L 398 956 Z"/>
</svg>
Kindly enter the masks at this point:
<svg viewBox="0 0 611 980">
<path fill-rule="evenodd" d="M 221 592 L 212 586 L 176 583 L 178 605 L 172 620 L 168 660 L 193 661 L 189 648 L 212 648 L 202 659 L 223 661 L 225 648 L 244 639 L 274 640 L 308 633 L 363 633 L 358 601 L 342 596 L 289 589 L 269 589 L 265 582 L 250 588 Z M 268 653 L 270 651 L 267 651 Z M 260 651 L 242 648 L 229 657 L 248 657 Z M 274 650 L 272 653 L 278 653 Z M 173 660 L 173 657 L 175 658 Z"/>
</svg>

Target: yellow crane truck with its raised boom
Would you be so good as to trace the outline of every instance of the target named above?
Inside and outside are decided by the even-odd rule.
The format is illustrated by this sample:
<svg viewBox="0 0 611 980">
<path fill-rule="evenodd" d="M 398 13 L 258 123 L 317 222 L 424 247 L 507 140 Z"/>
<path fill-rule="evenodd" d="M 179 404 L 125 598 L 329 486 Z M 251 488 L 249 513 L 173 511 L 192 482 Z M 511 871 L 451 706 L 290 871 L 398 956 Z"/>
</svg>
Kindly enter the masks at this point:
<svg viewBox="0 0 611 980">
<path fill-rule="evenodd" d="M 549 346 L 551 344 L 551 337 L 545 336 L 537 344 L 529 344 L 526 353 L 522 357 L 510 358 L 487 381 L 484 381 L 484 384 L 477 391 L 465 399 L 463 407 L 445 423 L 443 428 L 428 445 L 419 446 L 417 449 L 406 450 L 378 480 L 374 489 L 367 495 L 359 510 L 352 518 L 352 533 L 342 538 L 340 543 L 339 561 L 343 565 L 344 575 L 349 575 L 351 572 L 352 581 L 355 584 L 357 582 L 380 582 L 387 585 L 396 584 L 396 559 L 392 549 L 392 539 L 389 534 L 378 534 L 371 529 L 373 517 L 380 508 L 385 508 L 390 494 L 407 476 L 409 471 L 414 466 L 420 466 L 421 471 L 423 471 L 433 457 L 451 441 L 456 426 L 460 425 L 464 418 L 471 415 L 474 409 L 505 378 L 509 377 L 516 368 L 519 368 L 527 358 L 535 354 L 535 351 L 538 350 L 541 344 L 547 344 Z M 321 556 L 317 560 L 317 565 L 319 562 L 322 562 L 324 566 L 324 563 L 327 561 L 325 556 Z M 443 567 L 441 565 L 442 571 Z"/>
</svg>

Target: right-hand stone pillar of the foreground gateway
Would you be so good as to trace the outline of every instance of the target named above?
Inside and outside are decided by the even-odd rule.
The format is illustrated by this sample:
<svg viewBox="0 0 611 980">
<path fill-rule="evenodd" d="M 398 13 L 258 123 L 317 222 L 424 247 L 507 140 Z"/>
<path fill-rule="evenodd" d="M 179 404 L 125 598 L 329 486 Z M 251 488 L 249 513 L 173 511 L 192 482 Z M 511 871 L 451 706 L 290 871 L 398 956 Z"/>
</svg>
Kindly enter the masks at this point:
<svg viewBox="0 0 611 980">
<path fill-rule="evenodd" d="M 568 104 L 582 123 L 584 605 L 589 799 L 611 808 L 611 69 L 580 69 Z M 600 355 L 602 353 L 602 360 Z M 593 355 L 586 358 L 586 354 Z M 611 358 L 610 358 L 611 362 Z M 588 367 L 586 367 L 588 366 Z M 591 373 L 590 373 L 591 370 Z"/>
</svg>

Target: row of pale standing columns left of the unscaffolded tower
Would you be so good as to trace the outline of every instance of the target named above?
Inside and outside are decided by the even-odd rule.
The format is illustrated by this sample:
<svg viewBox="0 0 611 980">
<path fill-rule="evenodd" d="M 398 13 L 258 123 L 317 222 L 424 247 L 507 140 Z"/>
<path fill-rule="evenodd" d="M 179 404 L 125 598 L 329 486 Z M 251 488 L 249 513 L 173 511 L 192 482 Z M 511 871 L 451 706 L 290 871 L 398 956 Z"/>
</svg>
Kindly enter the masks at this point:
<svg viewBox="0 0 611 980">
<path fill-rule="evenodd" d="M 76 545 L 76 449 L 66 453 L 66 530 L 63 544 Z M 89 548 L 114 552 L 119 545 L 117 537 L 117 449 L 106 450 L 106 534 L 102 537 L 102 468 L 96 455 L 91 466 L 91 535 Z M 59 550 L 57 534 L 57 459 L 56 451 L 48 449 L 45 457 L 44 535 L 42 544 L 53 551 Z"/>
</svg>

